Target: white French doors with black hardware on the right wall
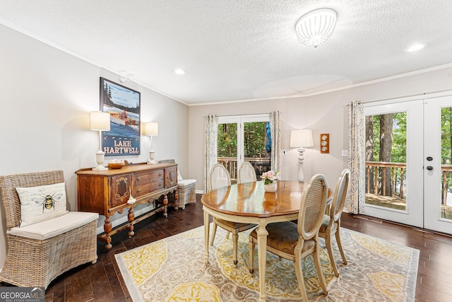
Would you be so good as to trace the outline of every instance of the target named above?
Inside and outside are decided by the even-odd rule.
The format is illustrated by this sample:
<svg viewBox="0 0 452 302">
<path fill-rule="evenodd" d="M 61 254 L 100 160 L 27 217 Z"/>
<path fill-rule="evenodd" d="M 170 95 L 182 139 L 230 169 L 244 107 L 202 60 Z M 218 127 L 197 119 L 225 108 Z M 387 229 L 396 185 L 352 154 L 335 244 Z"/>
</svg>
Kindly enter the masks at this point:
<svg viewBox="0 0 452 302">
<path fill-rule="evenodd" d="M 452 233 L 452 95 L 364 106 L 369 216 Z"/>
</svg>

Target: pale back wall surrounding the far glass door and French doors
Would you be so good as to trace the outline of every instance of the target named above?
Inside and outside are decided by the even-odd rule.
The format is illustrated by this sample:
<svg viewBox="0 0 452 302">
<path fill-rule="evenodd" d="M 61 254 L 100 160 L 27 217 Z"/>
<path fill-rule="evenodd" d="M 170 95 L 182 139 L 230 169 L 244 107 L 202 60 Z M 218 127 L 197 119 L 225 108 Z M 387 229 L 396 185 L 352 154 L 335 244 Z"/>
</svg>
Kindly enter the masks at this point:
<svg viewBox="0 0 452 302">
<path fill-rule="evenodd" d="M 306 149 L 304 156 L 304 177 L 311 178 L 316 173 L 326 175 L 328 183 L 335 185 L 340 171 L 347 167 L 347 158 L 341 151 L 348 149 L 347 124 L 348 106 L 352 100 L 369 102 L 401 98 L 408 95 L 452 90 L 452 68 L 423 71 L 412 76 L 381 81 L 380 83 L 348 88 L 304 98 L 262 100 L 225 105 L 203 105 L 189 108 L 189 170 L 190 178 L 196 178 L 196 190 L 203 190 L 203 117 L 208 114 L 246 115 L 281 112 L 281 148 L 287 155 L 281 158 L 281 178 L 297 180 L 298 152 L 289 146 L 292 129 L 312 129 L 314 147 Z M 320 153 L 320 134 L 330 134 L 330 153 Z"/>
</svg>

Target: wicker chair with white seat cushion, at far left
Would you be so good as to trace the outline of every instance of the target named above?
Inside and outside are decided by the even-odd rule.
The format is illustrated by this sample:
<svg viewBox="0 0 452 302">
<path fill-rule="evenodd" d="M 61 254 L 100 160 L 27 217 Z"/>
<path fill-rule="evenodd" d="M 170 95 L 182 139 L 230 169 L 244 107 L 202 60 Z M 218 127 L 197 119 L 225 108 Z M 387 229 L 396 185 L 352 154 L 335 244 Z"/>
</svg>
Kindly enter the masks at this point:
<svg viewBox="0 0 452 302">
<path fill-rule="evenodd" d="M 96 262 L 99 216 L 96 213 L 69 211 L 30 226 L 20 226 L 21 204 L 16 187 L 38 187 L 61 182 L 64 183 L 61 170 L 0 176 L 8 242 L 0 281 L 47 289 L 53 279 L 69 269 Z"/>
</svg>

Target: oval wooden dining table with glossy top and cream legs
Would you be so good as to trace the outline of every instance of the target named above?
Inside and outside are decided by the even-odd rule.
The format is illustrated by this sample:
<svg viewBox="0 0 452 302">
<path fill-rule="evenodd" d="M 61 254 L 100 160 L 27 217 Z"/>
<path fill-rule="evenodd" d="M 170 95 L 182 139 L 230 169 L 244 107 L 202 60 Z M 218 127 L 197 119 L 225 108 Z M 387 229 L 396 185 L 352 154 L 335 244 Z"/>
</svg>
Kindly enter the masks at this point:
<svg viewBox="0 0 452 302">
<path fill-rule="evenodd" d="M 208 262 L 210 215 L 227 221 L 257 225 L 259 299 L 266 301 L 266 226 L 268 223 L 298 219 L 304 182 L 280 180 L 274 193 L 265 192 L 263 182 L 246 182 L 212 190 L 201 197 L 204 211 L 205 258 Z M 328 190 L 328 202 L 333 192 Z"/>
</svg>

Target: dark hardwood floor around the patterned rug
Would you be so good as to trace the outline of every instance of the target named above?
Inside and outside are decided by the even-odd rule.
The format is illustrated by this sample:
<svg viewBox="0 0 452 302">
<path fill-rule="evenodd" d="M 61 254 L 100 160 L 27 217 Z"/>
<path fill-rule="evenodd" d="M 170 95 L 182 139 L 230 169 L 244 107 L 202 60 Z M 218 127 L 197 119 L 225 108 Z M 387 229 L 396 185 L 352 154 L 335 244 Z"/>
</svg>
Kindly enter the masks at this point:
<svg viewBox="0 0 452 302">
<path fill-rule="evenodd" d="M 202 226 L 200 198 L 198 195 L 198 202 L 187 204 L 184 210 L 169 209 L 167 218 L 160 213 L 136 223 L 133 238 L 128 238 L 127 231 L 115 234 L 109 252 L 104 252 L 99 242 L 97 263 L 82 265 L 52 281 L 46 301 L 131 301 L 114 254 Z M 420 250 L 415 301 L 452 301 L 451 237 L 347 213 L 343 214 L 342 226 Z"/>
</svg>

